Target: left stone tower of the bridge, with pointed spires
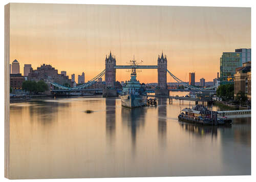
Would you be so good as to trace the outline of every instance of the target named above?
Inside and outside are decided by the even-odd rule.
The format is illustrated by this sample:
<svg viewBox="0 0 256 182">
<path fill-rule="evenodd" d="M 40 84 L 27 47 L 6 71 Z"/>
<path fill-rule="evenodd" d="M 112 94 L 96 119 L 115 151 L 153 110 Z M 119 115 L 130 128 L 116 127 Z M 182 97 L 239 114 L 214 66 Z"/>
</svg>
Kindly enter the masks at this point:
<svg viewBox="0 0 256 182">
<path fill-rule="evenodd" d="M 116 57 L 111 54 L 105 59 L 105 88 L 103 89 L 103 96 L 116 96 L 117 90 L 115 88 L 116 83 Z"/>
</svg>

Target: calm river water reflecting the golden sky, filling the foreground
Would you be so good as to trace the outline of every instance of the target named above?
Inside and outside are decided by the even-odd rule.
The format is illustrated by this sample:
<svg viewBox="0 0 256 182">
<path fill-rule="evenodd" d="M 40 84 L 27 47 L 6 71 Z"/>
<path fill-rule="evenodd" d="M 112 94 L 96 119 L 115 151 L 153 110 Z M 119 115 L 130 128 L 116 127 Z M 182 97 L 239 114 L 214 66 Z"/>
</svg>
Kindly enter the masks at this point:
<svg viewBox="0 0 256 182">
<path fill-rule="evenodd" d="M 119 98 L 11 103 L 10 176 L 249 175 L 250 118 L 226 127 L 178 122 L 189 104 L 159 99 L 156 108 L 130 110 Z"/>
</svg>

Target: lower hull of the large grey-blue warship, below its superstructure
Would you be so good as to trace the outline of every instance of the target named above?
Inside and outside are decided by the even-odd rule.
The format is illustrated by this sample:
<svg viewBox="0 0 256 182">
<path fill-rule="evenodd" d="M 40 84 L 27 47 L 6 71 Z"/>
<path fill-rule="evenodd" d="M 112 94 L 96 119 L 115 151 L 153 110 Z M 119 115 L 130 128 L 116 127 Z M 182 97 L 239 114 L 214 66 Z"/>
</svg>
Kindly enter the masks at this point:
<svg viewBox="0 0 256 182">
<path fill-rule="evenodd" d="M 146 106 L 147 96 L 145 95 L 121 95 L 121 103 L 126 108 L 138 108 Z"/>
</svg>

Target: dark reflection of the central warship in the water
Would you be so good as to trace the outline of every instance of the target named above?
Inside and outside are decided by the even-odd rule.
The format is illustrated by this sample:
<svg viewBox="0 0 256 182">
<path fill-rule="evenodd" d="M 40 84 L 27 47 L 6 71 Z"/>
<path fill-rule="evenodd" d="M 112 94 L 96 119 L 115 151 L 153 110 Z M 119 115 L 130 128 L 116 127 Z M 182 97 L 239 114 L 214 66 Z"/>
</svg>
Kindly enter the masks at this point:
<svg viewBox="0 0 256 182">
<path fill-rule="evenodd" d="M 132 151 L 136 149 L 137 130 L 145 124 L 146 108 L 129 109 L 122 107 L 122 124 L 131 129 Z"/>
</svg>

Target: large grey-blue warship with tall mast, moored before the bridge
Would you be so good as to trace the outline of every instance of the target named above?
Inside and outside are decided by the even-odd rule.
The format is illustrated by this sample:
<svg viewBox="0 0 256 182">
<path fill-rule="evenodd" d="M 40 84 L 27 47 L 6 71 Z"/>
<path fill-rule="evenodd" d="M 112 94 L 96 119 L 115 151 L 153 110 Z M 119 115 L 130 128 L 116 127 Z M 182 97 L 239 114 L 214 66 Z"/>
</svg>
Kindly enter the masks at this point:
<svg viewBox="0 0 256 182">
<path fill-rule="evenodd" d="M 127 81 L 122 88 L 121 105 L 126 108 L 138 108 L 147 105 L 147 94 L 145 84 L 136 80 L 136 61 L 132 60 L 131 80 Z"/>
</svg>

